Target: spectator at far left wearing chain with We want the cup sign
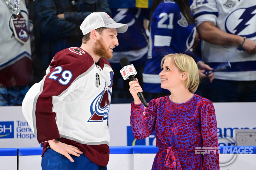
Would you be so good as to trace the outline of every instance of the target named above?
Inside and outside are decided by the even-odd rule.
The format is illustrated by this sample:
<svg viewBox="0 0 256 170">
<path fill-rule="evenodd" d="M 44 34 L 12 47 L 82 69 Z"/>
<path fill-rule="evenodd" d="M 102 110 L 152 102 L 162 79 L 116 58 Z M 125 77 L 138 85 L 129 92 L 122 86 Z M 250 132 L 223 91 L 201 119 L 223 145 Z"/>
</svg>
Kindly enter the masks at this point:
<svg viewBox="0 0 256 170">
<path fill-rule="evenodd" d="M 25 0 L 0 1 L 0 106 L 20 106 L 31 80 L 30 32 Z"/>
</svg>

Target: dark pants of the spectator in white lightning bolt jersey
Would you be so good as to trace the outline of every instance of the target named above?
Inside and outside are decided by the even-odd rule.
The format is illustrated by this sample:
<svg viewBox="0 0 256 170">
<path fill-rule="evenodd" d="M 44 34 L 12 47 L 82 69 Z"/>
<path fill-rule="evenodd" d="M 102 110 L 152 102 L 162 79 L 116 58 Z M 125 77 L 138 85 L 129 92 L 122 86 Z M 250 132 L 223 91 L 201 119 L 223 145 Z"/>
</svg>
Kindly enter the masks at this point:
<svg viewBox="0 0 256 170">
<path fill-rule="evenodd" d="M 200 85 L 202 96 L 212 102 L 256 102 L 256 81 L 205 79 Z"/>
</svg>

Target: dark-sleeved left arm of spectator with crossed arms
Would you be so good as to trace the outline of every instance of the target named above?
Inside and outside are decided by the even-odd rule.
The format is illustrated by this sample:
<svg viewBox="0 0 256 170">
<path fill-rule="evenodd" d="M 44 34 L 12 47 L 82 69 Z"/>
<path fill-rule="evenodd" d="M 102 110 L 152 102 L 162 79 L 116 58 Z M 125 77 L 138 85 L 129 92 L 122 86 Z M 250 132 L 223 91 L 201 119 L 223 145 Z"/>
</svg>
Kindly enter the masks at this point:
<svg viewBox="0 0 256 170">
<path fill-rule="evenodd" d="M 35 1 L 36 19 L 40 31 L 49 36 L 72 37 L 82 36 L 79 25 L 57 17 L 57 9 L 54 0 Z"/>
</svg>

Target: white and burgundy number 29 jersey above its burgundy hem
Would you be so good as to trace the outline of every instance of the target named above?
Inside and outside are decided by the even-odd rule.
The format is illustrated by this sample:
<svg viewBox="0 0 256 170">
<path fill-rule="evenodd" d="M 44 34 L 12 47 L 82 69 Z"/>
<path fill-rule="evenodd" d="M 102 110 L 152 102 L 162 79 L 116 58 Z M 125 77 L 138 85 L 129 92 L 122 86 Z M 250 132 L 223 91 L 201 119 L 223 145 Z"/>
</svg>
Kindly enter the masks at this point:
<svg viewBox="0 0 256 170">
<path fill-rule="evenodd" d="M 78 47 L 58 52 L 46 76 L 22 103 L 38 142 L 59 137 L 81 144 L 109 145 L 109 110 L 113 70 L 106 59 L 96 66 Z"/>
</svg>

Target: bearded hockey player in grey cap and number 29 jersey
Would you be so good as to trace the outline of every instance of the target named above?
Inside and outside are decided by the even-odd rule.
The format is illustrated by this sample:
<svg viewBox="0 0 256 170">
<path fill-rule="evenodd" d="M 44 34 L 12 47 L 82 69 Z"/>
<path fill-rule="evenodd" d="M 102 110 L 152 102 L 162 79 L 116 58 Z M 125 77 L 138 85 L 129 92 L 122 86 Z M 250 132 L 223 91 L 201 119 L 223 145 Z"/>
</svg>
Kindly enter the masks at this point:
<svg viewBox="0 0 256 170">
<path fill-rule="evenodd" d="M 127 25 L 94 12 L 80 29 L 81 47 L 56 53 L 23 101 L 23 114 L 44 147 L 43 170 L 106 169 L 109 161 L 113 70 L 106 59 Z"/>
</svg>

